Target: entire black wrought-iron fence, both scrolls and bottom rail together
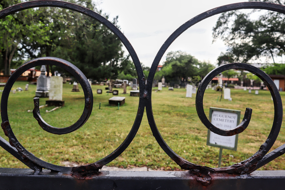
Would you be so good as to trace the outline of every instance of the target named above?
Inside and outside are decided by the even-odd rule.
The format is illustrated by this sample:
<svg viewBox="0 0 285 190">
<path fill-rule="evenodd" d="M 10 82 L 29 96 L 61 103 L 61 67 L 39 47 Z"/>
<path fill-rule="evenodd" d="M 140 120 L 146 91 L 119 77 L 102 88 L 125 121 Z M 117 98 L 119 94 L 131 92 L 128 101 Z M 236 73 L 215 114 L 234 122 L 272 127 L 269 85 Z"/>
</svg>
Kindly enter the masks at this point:
<svg viewBox="0 0 285 190">
<path fill-rule="evenodd" d="M 127 38 L 123 35 L 123 33 L 106 18 L 85 7 L 81 7 L 79 5 L 64 1 L 53 1 L 53 0 L 27 1 L 1 10 L 0 19 L 12 13 L 35 7 L 60 7 L 77 11 L 79 13 L 82 13 L 99 21 L 100 23 L 105 25 L 108 29 L 110 29 L 115 35 L 117 35 L 118 38 L 121 40 L 121 42 L 127 48 L 135 64 L 135 68 L 137 70 L 139 78 L 139 89 L 140 89 L 139 107 L 137 110 L 137 116 L 135 118 L 135 122 L 127 138 L 123 141 L 123 143 L 121 143 L 121 145 L 117 149 L 115 149 L 111 154 L 107 155 L 105 158 L 96 161 L 94 163 L 88 165 L 82 165 L 79 167 L 63 167 L 47 163 L 37 158 L 29 151 L 27 151 L 27 149 L 25 149 L 25 147 L 21 145 L 21 143 L 17 140 L 16 136 L 13 133 L 7 113 L 7 101 L 10 90 L 14 82 L 24 71 L 39 65 L 60 66 L 69 71 L 71 74 L 73 74 L 75 78 L 80 82 L 84 91 L 85 107 L 82 116 L 79 118 L 79 120 L 69 127 L 56 128 L 47 124 L 40 116 L 39 99 L 34 98 L 34 110 L 33 110 L 34 118 L 38 121 L 39 125 L 42 127 L 43 130 L 52 134 L 59 134 L 59 135 L 67 134 L 82 127 L 91 114 L 93 107 L 93 94 L 89 82 L 87 78 L 84 76 L 84 74 L 76 66 L 74 66 L 72 63 L 66 60 L 54 57 L 42 57 L 42 58 L 33 59 L 23 64 L 17 70 L 15 70 L 15 72 L 11 75 L 2 92 L 1 127 L 5 135 L 9 138 L 9 142 L 0 137 L 0 145 L 6 151 L 11 153 L 21 162 L 23 162 L 25 165 L 30 167 L 31 170 L 7 169 L 7 168 L 0 169 L 0 189 L 52 188 L 51 186 L 50 187 L 45 186 L 46 183 L 52 183 L 54 189 L 61 189 L 63 187 L 66 189 L 67 188 L 91 189 L 93 187 L 96 187 L 98 189 L 115 189 L 115 188 L 154 189 L 159 185 L 160 187 L 158 188 L 161 189 L 178 189 L 178 188 L 179 189 L 223 189 L 226 187 L 231 187 L 232 189 L 239 189 L 239 188 L 254 189 L 254 187 L 260 187 L 262 189 L 263 187 L 274 187 L 276 185 L 283 183 L 282 180 L 284 180 L 285 178 L 285 173 L 282 171 L 280 171 L 279 173 L 275 173 L 274 174 L 275 177 L 272 177 L 272 175 L 268 173 L 262 173 L 262 172 L 261 173 L 255 172 L 251 174 L 258 168 L 262 167 L 266 163 L 275 159 L 276 157 L 283 155 L 285 149 L 285 144 L 284 144 L 275 149 L 274 151 L 268 153 L 280 131 L 282 124 L 283 108 L 282 108 L 282 100 L 278 92 L 278 89 L 276 88 L 272 79 L 262 70 L 245 63 L 225 64 L 219 66 L 218 68 L 215 68 L 209 74 L 207 74 L 207 76 L 205 76 L 200 86 L 198 87 L 198 91 L 196 94 L 196 110 L 198 116 L 201 122 L 209 130 L 211 130 L 215 134 L 219 134 L 222 136 L 233 136 L 235 134 L 243 132 L 247 128 L 251 120 L 252 109 L 246 108 L 243 121 L 236 128 L 232 130 L 222 130 L 213 126 L 211 122 L 209 122 L 209 120 L 207 119 L 203 109 L 203 95 L 207 85 L 215 76 L 217 76 L 217 74 L 229 69 L 247 70 L 257 75 L 266 84 L 273 97 L 274 121 L 268 138 L 260 146 L 260 149 L 253 156 L 244 161 L 241 161 L 240 163 L 233 164 L 229 167 L 210 168 L 206 166 L 197 165 L 183 159 L 177 153 L 175 153 L 164 141 L 164 139 L 160 135 L 160 132 L 158 131 L 158 128 L 156 127 L 152 113 L 151 93 L 152 93 L 152 81 L 154 78 L 154 74 L 163 54 L 166 52 L 167 48 L 171 45 L 171 43 L 179 35 L 181 35 L 184 31 L 186 31 L 189 27 L 202 21 L 203 19 L 206 19 L 208 17 L 211 17 L 219 13 L 224 13 L 226 11 L 233 11 L 238 9 L 265 9 L 284 14 L 285 6 L 273 3 L 266 3 L 266 2 L 243 2 L 243 3 L 224 5 L 221 7 L 217 7 L 215 9 L 211 9 L 204 13 L 201 13 L 200 15 L 197 15 L 196 17 L 190 19 L 189 21 L 181 25 L 176 31 L 174 31 L 174 33 L 172 33 L 172 35 L 170 35 L 170 37 L 168 37 L 168 39 L 162 45 L 162 47 L 160 48 L 160 50 L 158 51 L 158 53 L 154 58 L 154 61 L 152 63 L 148 75 L 148 80 L 146 83 L 139 58 L 134 48 L 127 40 Z M 158 144 L 160 145 L 160 147 L 172 160 L 174 160 L 181 167 L 181 169 L 185 169 L 188 171 L 156 172 L 156 173 L 153 172 L 116 173 L 111 171 L 108 172 L 99 171 L 99 169 L 101 169 L 104 165 L 117 158 L 135 138 L 135 135 L 140 127 L 143 118 L 144 109 L 146 109 L 146 115 L 152 134 L 155 137 Z M 125 181 L 122 179 L 122 177 L 125 179 Z M 89 180 L 83 180 L 83 179 L 89 179 Z M 246 180 L 243 181 L 243 179 Z M 268 182 L 270 182 L 270 184 L 265 185 L 264 181 L 262 181 L 263 179 L 267 179 Z M 270 181 L 270 179 L 271 180 L 273 179 L 273 181 Z M 39 183 L 35 183 L 34 182 L 35 180 L 38 180 Z M 11 181 L 18 181 L 19 183 L 22 184 L 22 186 L 15 185 L 15 183 L 11 183 Z M 240 184 L 240 186 L 237 184 Z"/>
</svg>

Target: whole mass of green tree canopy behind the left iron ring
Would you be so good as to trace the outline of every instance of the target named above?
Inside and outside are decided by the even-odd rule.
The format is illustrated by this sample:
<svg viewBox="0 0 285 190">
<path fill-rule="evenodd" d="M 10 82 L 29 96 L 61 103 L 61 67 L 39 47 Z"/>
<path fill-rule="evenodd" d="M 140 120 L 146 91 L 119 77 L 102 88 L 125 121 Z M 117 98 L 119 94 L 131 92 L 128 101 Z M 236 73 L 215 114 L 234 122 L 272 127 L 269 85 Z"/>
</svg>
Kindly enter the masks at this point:
<svg viewBox="0 0 285 190">
<path fill-rule="evenodd" d="M 108 19 L 97 10 L 92 0 L 71 3 L 87 7 Z M 21 0 L 0 1 L 0 9 Z M 112 23 L 117 25 L 118 17 Z M 123 56 L 122 43 L 101 23 L 94 19 L 57 7 L 40 7 L 19 11 L 0 20 L 0 69 L 8 74 L 11 62 L 42 56 L 65 59 L 77 66 L 87 78 L 104 80 L 125 73 L 136 76 L 129 56 Z M 9 68 L 8 66 L 9 65 Z M 12 64 L 13 67 L 19 66 Z M 54 66 L 50 68 L 54 71 Z M 61 68 L 59 72 L 66 73 Z"/>
</svg>

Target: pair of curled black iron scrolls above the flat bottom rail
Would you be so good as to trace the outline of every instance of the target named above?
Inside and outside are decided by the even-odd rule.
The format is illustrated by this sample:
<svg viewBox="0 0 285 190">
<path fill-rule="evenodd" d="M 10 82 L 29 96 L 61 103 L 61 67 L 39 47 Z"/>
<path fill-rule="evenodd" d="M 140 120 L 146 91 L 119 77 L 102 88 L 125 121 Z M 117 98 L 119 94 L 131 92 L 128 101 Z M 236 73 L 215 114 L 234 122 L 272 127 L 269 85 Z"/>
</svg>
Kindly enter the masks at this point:
<svg viewBox="0 0 285 190">
<path fill-rule="evenodd" d="M 6 136 L 9 137 L 9 142 L 4 140 L 2 137 L 0 137 L 0 145 L 7 150 L 9 153 L 14 155 L 17 159 L 22 161 L 24 164 L 26 164 L 28 167 L 30 167 L 33 170 L 41 170 L 42 168 L 50 169 L 52 171 L 72 171 L 72 174 L 78 178 L 85 178 L 86 176 L 90 176 L 93 174 L 98 173 L 99 169 L 103 167 L 103 165 L 106 165 L 107 163 L 114 160 L 116 157 L 118 157 L 132 142 L 133 138 L 135 137 L 139 126 L 141 124 L 141 120 L 143 117 L 144 108 L 146 108 L 146 114 L 148 118 L 148 122 L 150 125 L 150 128 L 152 130 L 153 136 L 155 137 L 156 141 L 160 145 L 160 147 L 167 153 L 182 169 L 190 170 L 191 173 L 197 175 L 197 180 L 203 184 L 209 183 L 211 180 L 211 173 L 231 173 L 231 174 L 244 174 L 244 173 L 251 173 L 258 169 L 259 167 L 265 165 L 266 163 L 272 161 L 276 157 L 284 154 L 285 150 L 285 144 L 277 148 L 276 150 L 270 152 L 268 151 L 274 144 L 278 133 L 280 131 L 281 123 L 282 123 L 282 116 L 283 116 L 283 108 L 282 108 L 282 100 L 280 97 L 280 94 L 278 92 L 278 89 L 274 85 L 274 82 L 272 79 L 265 74 L 262 70 L 251 66 L 249 64 L 244 63 L 230 63 L 225 64 L 223 66 L 220 66 L 218 68 L 215 68 L 213 71 L 211 71 L 207 76 L 202 80 L 200 86 L 198 87 L 198 92 L 196 95 L 196 109 L 197 113 L 199 115 L 199 118 L 201 122 L 212 132 L 223 135 L 223 136 L 231 136 L 235 134 L 239 134 L 243 132 L 247 126 L 249 125 L 250 119 L 251 119 L 251 108 L 246 108 L 245 116 L 243 118 L 243 121 L 239 126 L 237 126 L 233 130 L 221 130 L 215 126 L 213 126 L 207 117 L 205 116 L 204 110 L 203 110 L 203 96 L 205 89 L 207 87 L 207 84 L 219 73 L 233 69 L 233 68 L 239 68 L 244 69 L 249 72 L 252 72 L 253 74 L 257 75 L 261 80 L 264 81 L 264 83 L 267 85 L 268 89 L 270 90 L 273 102 L 274 102 L 274 121 L 272 125 L 271 132 L 267 138 L 267 140 L 261 145 L 260 149 L 255 153 L 253 156 L 251 156 L 249 159 L 242 161 L 241 163 L 234 164 L 229 167 L 223 167 L 223 168 L 209 168 L 205 166 L 196 165 L 194 163 L 191 163 L 179 155 L 177 155 L 163 140 L 162 136 L 160 135 L 155 121 L 152 114 L 152 104 L 151 104 L 151 92 L 152 92 L 152 81 L 154 78 L 154 74 L 156 71 L 156 68 L 163 56 L 163 54 L 166 52 L 167 48 L 170 46 L 170 44 L 184 31 L 186 31 L 189 27 L 192 25 L 202 21 L 203 19 L 206 19 L 208 17 L 211 17 L 213 15 L 223 13 L 226 11 L 232 11 L 232 10 L 238 10 L 238 9 L 266 9 L 271 11 L 276 11 L 285 14 L 285 6 L 277 5 L 273 3 L 265 3 L 265 2 L 243 2 L 243 3 L 234 3 L 230 5 L 224 5 L 221 7 L 217 7 L 215 9 L 211 9 L 209 11 L 206 11 L 204 13 L 201 13 L 200 15 L 194 17 L 193 19 L 190 19 L 183 25 L 181 25 L 170 37 L 166 40 L 166 42 L 162 45 L 158 53 L 156 54 L 156 57 L 154 58 L 154 61 L 152 63 L 152 66 L 150 68 L 150 72 L 148 75 L 147 84 L 145 85 L 144 80 L 144 74 L 143 70 L 139 61 L 139 58 L 133 49 L 132 45 L 129 43 L 127 38 L 123 35 L 123 33 L 115 27 L 111 22 L 109 22 L 107 19 L 102 17 L 101 15 L 85 8 L 81 7 L 76 4 L 64 2 L 64 1 L 53 1 L 53 0 L 37 0 L 37 1 L 28 1 L 24 3 L 20 3 L 17 5 L 13 5 L 11 7 L 8 7 L 6 9 L 3 9 L 0 11 L 0 19 L 3 17 L 6 17 L 7 15 L 10 15 L 12 13 L 15 13 L 17 11 L 21 11 L 24 9 L 34 8 L 34 7 L 61 7 L 66 8 L 70 10 L 77 11 L 79 13 L 82 13 L 84 15 L 87 15 L 103 25 L 105 25 L 108 29 L 110 29 L 115 35 L 119 37 L 121 42 L 125 45 L 127 48 L 129 54 L 131 55 L 133 62 L 135 64 L 138 78 L 139 78 L 139 89 L 140 89 L 140 98 L 139 98 L 139 107 L 137 111 L 137 116 L 135 118 L 135 122 L 133 124 L 133 127 L 131 131 L 129 132 L 127 138 L 121 143 L 121 145 L 114 150 L 112 153 L 107 155 L 105 158 L 96 161 L 92 164 L 79 166 L 79 167 L 62 167 L 58 165 L 53 165 L 50 163 L 47 163 L 45 161 L 42 161 L 41 159 L 34 156 L 32 153 L 28 152 L 17 140 L 15 135 L 13 134 L 12 128 L 9 123 L 8 114 L 7 114 L 7 100 L 9 96 L 9 92 L 16 81 L 16 79 L 27 69 L 32 68 L 34 66 L 38 65 L 56 65 L 60 66 L 66 70 L 68 70 L 71 74 L 73 74 L 80 84 L 83 87 L 84 96 L 85 96 L 85 107 L 82 116 L 79 118 L 79 120 L 66 128 L 55 128 L 53 126 L 50 126 L 40 116 L 40 112 L 38 109 L 39 100 L 34 99 L 35 108 L 33 110 L 34 118 L 38 121 L 39 125 L 47 132 L 53 133 L 53 134 L 67 134 L 70 132 L 73 132 L 74 130 L 77 130 L 80 128 L 89 118 L 92 106 L 93 106 L 93 94 L 90 88 L 89 83 L 87 82 L 86 77 L 84 74 L 72 63 L 67 62 L 65 60 L 59 59 L 59 58 L 53 58 L 53 57 L 45 57 L 45 58 L 38 58 L 31 60 L 24 65 L 20 66 L 9 78 L 7 81 L 5 88 L 2 93 L 1 98 L 1 127 L 4 130 L 4 133 Z"/>
</svg>

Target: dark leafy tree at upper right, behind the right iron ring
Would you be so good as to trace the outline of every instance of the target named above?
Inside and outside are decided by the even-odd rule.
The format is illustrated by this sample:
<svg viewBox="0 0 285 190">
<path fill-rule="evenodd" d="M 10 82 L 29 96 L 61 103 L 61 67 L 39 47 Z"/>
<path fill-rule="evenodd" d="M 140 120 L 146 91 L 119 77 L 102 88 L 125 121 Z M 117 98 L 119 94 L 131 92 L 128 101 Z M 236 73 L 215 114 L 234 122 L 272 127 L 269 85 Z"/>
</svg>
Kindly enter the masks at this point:
<svg viewBox="0 0 285 190">
<path fill-rule="evenodd" d="M 253 1 L 253 0 L 249 0 Z M 254 0 L 256 1 L 256 0 Z M 257 0 L 284 5 L 284 0 Z M 229 11 L 222 13 L 213 28 L 213 41 L 220 38 L 228 46 L 226 53 L 219 57 L 229 62 L 244 62 L 285 54 L 285 15 L 266 11 L 257 20 L 251 13 Z"/>
</svg>

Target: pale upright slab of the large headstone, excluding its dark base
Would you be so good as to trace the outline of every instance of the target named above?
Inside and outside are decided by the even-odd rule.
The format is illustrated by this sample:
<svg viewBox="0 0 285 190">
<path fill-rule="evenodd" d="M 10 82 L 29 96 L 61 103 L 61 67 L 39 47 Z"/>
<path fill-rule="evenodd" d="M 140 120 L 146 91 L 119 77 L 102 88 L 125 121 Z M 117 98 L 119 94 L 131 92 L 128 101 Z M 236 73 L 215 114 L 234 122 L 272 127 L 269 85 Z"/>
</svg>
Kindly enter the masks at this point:
<svg viewBox="0 0 285 190">
<path fill-rule="evenodd" d="M 61 76 L 50 77 L 49 100 L 62 100 L 62 81 L 63 78 Z"/>
</svg>

